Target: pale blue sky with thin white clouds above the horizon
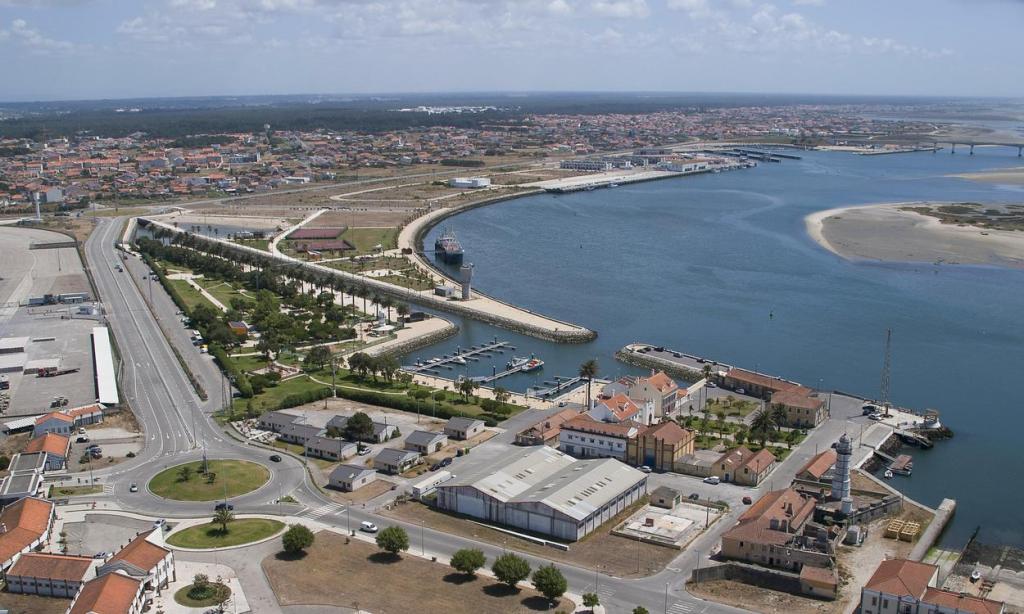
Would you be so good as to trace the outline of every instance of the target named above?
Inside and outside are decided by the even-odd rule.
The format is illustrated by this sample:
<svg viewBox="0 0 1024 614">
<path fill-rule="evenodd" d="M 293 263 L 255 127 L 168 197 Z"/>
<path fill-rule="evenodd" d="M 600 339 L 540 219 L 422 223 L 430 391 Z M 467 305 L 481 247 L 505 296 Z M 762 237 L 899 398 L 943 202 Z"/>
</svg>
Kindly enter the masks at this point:
<svg viewBox="0 0 1024 614">
<path fill-rule="evenodd" d="M 1024 97 L 1024 0 L 0 0 L 0 99 Z"/>
</svg>

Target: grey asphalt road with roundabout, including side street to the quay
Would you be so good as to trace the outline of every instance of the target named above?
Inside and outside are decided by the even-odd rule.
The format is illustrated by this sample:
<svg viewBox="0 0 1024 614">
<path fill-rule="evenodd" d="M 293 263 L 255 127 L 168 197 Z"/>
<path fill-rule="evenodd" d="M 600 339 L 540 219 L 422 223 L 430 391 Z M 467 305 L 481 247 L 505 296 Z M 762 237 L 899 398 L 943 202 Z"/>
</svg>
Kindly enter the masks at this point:
<svg viewBox="0 0 1024 614">
<path fill-rule="evenodd" d="M 409 531 L 413 552 L 423 549 L 429 555 L 451 556 L 461 547 L 479 547 L 489 560 L 502 554 L 502 549 L 476 542 L 459 535 L 451 535 L 408 523 L 395 522 L 362 509 L 345 509 L 327 496 L 311 483 L 301 461 L 283 454 L 281 463 L 268 463 L 269 452 L 247 445 L 228 436 L 225 430 L 211 418 L 221 402 L 218 393 L 220 376 L 209 357 L 199 354 L 187 342 L 176 316 L 176 308 L 163 289 L 148 281 L 141 281 L 144 265 L 137 259 L 128 257 L 126 269 L 119 272 L 115 265 L 121 262 L 121 252 L 115 248 L 123 218 L 101 220 L 85 246 L 88 266 L 92 271 L 100 298 L 117 339 L 123 361 L 122 388 L 142 425 L 145 446 L 135 458 L 126 461 L 110 470 L 95 472 L 97 476 L 114 484 L 113 492 L 104 495 L 121 509 L 131 510 L 155 517 L 195 518 L 209 515 L 210 503 L 182 502 L 162 499 L 147 491 L 145 484 L 150 478 L 163 469 L 183 462 L 202 457 L 203 451 L 213 458 L 239 458 L 254 461 L 269 466 L 270 482 L 260 489 L 231 499 L 237 513 L 276 514 L 293 513 L 298 518 L 315 519 L 338 528 L 357 527 L 369 520 L 378 526 L 400 525 Z M 136 283 L 136 279 L 139 280 Z M 143 291 L 139 288 L 142 287 Z M 143 297 L 143 294 L 146 295 Z M 154 309 L 151 311 L 146 300 L 152 297 Z M 174 340 L 189 368 L 203 382 L 210 394 L 208 401 L 196 395 L 185 374 L 168 345 L 161 331 L 158 318 Z M 189 353 L 190 352 L 190 353 Z M 849 405 L 849 406 L 848 406 Z M 651 612 L 668 611 L 672 614 L 699 614 L 706 612 L 739 612 L 734 608 L 705 602 L 691 597 L 683 589 L 685 578 L 698 564 L 698 559 L 707 560 L 711 549 L 717 544 L 719 535 L 729 528 L 735 517 L 741 513 L 738 499 L 743 494 L 755 498 L 774 484 L 787 484 L 797 469 L 814 453 L 819 446 L 827 447 L 844 430 L 856 432 L 855 421 L 859 419 L 858 403 L 836 401 L 834 413 L 842 413 L 840 420 L 827 423 L 815 430 L 799 450 L 776 469 L 770 484 L 758 489 L 740 489 L 733 485 L 709 486 L 699 480 L 673 474 L 653 475 L 652 484 L 668 483 L 680 487 L 684 492 L 698 491 L 703 496 L 714 496 L 734 501 L 732 511 L 712 530 L 698 537 L 690 549 L 684 551 L 668 568 L 655 575 L 640 579 L 621 579 L 601 576 L 598 593 L 609 612 L 628 612 L 636 605 L 643 605 Z M 536 413 L 532 413 L 536 418 Z M 844 420 L 846 414 L 850 420 Z M 471 464 L 501 462 L 503 449 L 511 445 L 511 438 L 518 430 L 519 422 L 527 420 L 520 415 L 506 425 L 508 431 L 496 437 L 474 453 L 457 462 L 465 464 L 453 467 L 455 471 L 471 468 Z M 850 425 L 853 425 L 851 427 Z M 137 483 L 139 492 L 130 493 L 129 484 Z M 298 499 L 300 508 L 275 505 L 282 494 L 291 494 Z M 239 556 L 247 551 L 237 551 Z M 520 553 L 536 568 L 547 561 Z M 595 562 L 597 563 L 597 562 Z M 593 567 L 571 566 L 559 563 L 568 580 L 569 589 L 583 594 L 595 588 Z M 258 574 L 257 574 L 258 575 Z M 245 583 L 245 579 L 243 580 Z M 263 580 L 260 580 L 263 581 Z M 265 588 L 265 586 L 261 586 Z M 666 607 L 668 605 L 668 607 Z M 265 608 L 265 609 L 264 609 Z M 261 606 L 257 611 L 275 611 L 270 606 Z"/>
</svg>

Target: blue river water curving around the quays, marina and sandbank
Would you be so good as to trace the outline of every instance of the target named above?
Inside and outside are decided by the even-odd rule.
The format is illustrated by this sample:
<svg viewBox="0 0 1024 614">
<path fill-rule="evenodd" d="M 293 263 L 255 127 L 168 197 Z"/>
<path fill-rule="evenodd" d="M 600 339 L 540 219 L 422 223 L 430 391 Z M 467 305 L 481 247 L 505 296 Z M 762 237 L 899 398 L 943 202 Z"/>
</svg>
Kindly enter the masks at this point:
<svg viewBox="0 0 1024 614">
<path fill-rule="evenodd" d="M 956 434 L 916 453 L 913 477 L 899 485 L 927 505 L 958 500 L 948 543 L 983 525 L 985 539 L 1024 545 L 1024 490 L 1015 478 L 1024 470 L 1015 385 L 1024 372 L 1024 271 L 851 263 L 819 248 L 804 227 L 808 213 L 847 205 L 1024 202 L 1019 187 L 946 176 L 1021 164 L 1016 149 L 999 148 L 974 157 L 806 152 L 749 171 L 471 210 L 445 225 L 475 265 L 478 289 L 599 337 L 555 345 L 460 321 L 458 338 L 411 359 L 497 336 L 511 340 L 517 355 L 536 352 L 547 362 L 541 374 L 502 382 L 522 390 L 574 375 L 591 357 L 606 377 L 634 372 L 613 353 L 643 341 L 878 396 L 891 327 L 894 402 L 939 409 Z M 505 360 L 463 370 L 481 375 Z"/>
</svg>

